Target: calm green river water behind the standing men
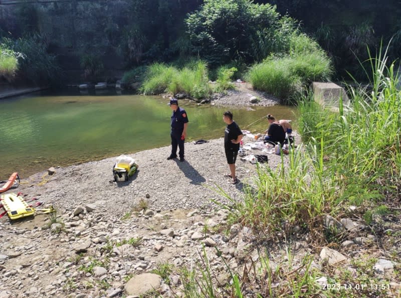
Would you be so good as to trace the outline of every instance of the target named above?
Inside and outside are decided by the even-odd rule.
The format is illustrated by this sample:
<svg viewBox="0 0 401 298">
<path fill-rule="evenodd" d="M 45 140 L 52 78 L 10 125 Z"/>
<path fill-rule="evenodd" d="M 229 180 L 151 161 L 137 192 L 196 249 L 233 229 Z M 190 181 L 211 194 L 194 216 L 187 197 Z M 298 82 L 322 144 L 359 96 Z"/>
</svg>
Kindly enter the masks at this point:
<svg viewBox="0 0 401 298">
<path fill-rule="evenodd" d="M 168 99 L 142 95 L 31 94 L 0 100 L 0 180 L 170 144 Z M 242 129 L 266 129 L 267 113 L 294 119 L 288 106 L 196 105 L 179 100 L 189 119 L 187 141 L 224 136 L 231 110 Z M 169 151 L 166 150 L 166 157 Z M 112 166 L 112 165 L 111 165 Z M 1 185 L 0 185 L 1 186 Z"/>
</svg>

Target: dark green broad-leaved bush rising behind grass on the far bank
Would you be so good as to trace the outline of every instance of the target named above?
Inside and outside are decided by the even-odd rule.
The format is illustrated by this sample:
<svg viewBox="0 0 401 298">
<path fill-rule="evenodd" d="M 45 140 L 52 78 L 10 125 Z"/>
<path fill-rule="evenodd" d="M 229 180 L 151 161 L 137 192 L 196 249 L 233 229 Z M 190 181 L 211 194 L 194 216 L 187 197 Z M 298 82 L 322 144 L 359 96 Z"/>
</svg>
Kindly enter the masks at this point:
<svg viewBox="0 0 401 298">
<path fill-rule="evenodd" d="M 249 0 L 206 0 L 186 19 L 192 50 L 210 63 L 254 60 L 253 44 L 262 32 L 278 25 L 279 14 L 270 4 Z"/>
</svg>

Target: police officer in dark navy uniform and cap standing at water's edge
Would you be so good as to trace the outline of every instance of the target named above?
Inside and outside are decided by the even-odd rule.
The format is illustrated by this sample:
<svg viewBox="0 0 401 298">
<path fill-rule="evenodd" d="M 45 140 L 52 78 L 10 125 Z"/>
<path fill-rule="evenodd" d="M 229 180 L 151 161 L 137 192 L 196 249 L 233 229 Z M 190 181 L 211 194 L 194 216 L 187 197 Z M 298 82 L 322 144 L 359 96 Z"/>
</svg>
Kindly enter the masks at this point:
<svg viewBox="0 0 401 298">
<path fill-rule="evenodd" d="M 177 146 L 179 147 L 179 161 L 184 161 L 184 141 L 186 136 L 186 127 L 188 126 L 188 116 L 186 111 L 178 106 L 176 98 L 170 99 L 171 115 L 171 154 L 167 159 L 177 157 Z"/>
</svg>

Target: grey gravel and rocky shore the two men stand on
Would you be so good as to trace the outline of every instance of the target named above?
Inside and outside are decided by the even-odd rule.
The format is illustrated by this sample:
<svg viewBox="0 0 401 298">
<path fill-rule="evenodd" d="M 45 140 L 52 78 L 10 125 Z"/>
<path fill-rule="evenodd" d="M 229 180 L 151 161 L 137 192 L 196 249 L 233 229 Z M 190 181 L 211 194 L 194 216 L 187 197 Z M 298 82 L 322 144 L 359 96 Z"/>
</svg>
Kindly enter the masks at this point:
<svg viewBox="0 0 401 298">
<path fill-rule="evenodd" d="M 239 100 L 248 97 L 238 95 Z M 256 144 L 251 135 L 244 141 Z M 248 154 L 268 155 L 262 169 L 275 169 L 282 162 L 271 148 L 261 149 L 255 146 Z M 246 277 L 252 266 L 266 272 L 261 265 L 261 251 L 266 249 L 268 267 L 279 268 L 288 280 L 296 278 L 294 268 L 304 268 L 305 258 L 311 257 L 315 282 L 326 289 L 322 296 L 330 295 L 333 274 L 345 272 L 350 284 L 360 283 L 357 277 L 362 273 L 355 259 L 374 257 L 366 270 L 373 271 L 375 279 L 360 286 L 375 284 L 384 287 L 379 293 L 400 295 L 399 218 L 375 217 L 373 225 L 387 231 L 378 235 L 351 211 L 342 218 L 327 215 L 325 228 L 335 225 L 343 230 L 340 247 L 314 247 L 301 233 L 289 242 L 258 246 L 252 227 L 227 225 L 228 211 L 221 205 L 244 199 L 257 166 L 239 159 L 240 183 L 232 184 L 225 176 L 229 169 L 223 138 L 187 142 L 185 152 L 184 162 L 166 160 L 168 146 L 128 154 L 139 168 L 127 182 L 113 181 L 115 157 L 110 157 L 56 168 L 52 175 L 43 171 L 8 190 L 21 192 L 33 203 L 42 201 L 38 210 L 52 205 L 57 211 L 52 215 L 38 211 L 33 218 L 15 221 L 7 215 L 0 219 L 0 298 L 182 297 L 187 273 L 192 270 L 199 280 L 206 262 L 216 294 L 226 297 L 232 272 Z M 288 155 L 283 160 L 286 166 Z M 247 274 L 250 278 L 250 271 Z M 371 292 L 377 296 L 377 290 Z"/>
</svg>

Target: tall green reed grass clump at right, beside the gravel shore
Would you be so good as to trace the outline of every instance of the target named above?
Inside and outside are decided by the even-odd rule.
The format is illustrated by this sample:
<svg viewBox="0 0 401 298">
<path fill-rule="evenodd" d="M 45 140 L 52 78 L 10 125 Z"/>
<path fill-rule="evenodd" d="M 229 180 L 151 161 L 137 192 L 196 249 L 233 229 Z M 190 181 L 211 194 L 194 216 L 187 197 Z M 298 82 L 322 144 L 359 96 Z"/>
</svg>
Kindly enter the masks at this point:
<svg viewBox="0 0 401 298">
<path fill-rule="evenodd" d="M 325 242 L 325 214 L 336 215 L 349 204 L 371 212 L 378 203 L 399 203 L 399 74 L 386 52 L 370 63 L 372 90 L 350 88 L 350 104 L 341 105 L 339 112 L 303 98 L 298 122 L 304 145 L 282 156 L 288 166 L 258 167 L 255 186 L 246 188 L 244 201 L 226 206 L 232 222 L 270 238 L 288 236 L 299 226 Z"/>
</svg>

